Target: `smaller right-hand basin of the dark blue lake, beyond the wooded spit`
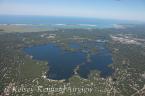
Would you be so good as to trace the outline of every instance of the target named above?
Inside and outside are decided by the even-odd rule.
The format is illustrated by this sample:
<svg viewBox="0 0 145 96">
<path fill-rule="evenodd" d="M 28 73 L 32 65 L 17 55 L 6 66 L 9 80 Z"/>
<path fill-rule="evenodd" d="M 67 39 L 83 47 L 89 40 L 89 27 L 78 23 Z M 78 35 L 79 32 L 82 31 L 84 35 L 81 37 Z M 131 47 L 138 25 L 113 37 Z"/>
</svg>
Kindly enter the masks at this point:
<svg viewBox="0 0 145 96">
<path fill-rule="evenodd" d="M 91 56 L 91 62 L 80 66 L 79 74 L 81 77 L 87 78 L 92 70 L 99 70 L 101 77 L 111 76 L 113 73 L 113 69 L 108 67 L 113 62 L 111 52 L 104 43 L 98 43 L 96 45 L 99 52 Z"/>
</svg>

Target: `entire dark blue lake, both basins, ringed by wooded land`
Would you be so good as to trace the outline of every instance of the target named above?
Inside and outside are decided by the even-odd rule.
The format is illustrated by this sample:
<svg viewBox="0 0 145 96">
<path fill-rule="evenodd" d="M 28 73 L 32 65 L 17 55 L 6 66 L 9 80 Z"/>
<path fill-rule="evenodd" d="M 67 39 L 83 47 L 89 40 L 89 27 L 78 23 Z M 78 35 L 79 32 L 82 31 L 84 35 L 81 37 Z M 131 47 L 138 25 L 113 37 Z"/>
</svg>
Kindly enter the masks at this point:
<svg viewBox="0 0 145 96">
<path fill-rule="evenodd" d="M 70 47 L 78 48 L 78 45 L 71 44 Z M 74 75 L 74 69 L 80 65 L 78 74 L 83 78 L 88 78 L 90 71 L 99 70 L 102 77 L 110 76 L 113 70 L 108 67 L 112 63 L 109 50 L 103 45 L 98 45 L 100 50 L 91 56 L 91 62 L 86 62 L 86 53 L 81 51 L 69 52 L 55 44 L 47 44 L 25 48 L 24 51 L 33 56 L 36 60 L 48 61 L 49 79 L 68 79 Z M 102 48 L 103 47 L 103 48 Z"/>
</svg>

